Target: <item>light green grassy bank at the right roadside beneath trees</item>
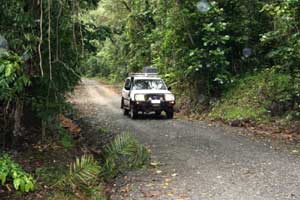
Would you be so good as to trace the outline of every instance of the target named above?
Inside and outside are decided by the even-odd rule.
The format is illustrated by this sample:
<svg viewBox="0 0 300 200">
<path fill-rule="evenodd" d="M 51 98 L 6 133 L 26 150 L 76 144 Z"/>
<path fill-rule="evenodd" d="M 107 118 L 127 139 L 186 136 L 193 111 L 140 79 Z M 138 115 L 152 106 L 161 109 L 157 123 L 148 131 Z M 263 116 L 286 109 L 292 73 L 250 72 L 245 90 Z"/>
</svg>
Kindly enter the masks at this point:
<svg viewBox="0 0 300 200">
<path fill-rule="evenodd" d="M 234 85 L 212 106 L 208 117 L 269 122 L 272 102 L 288 100 L 290 77 L 273 68 L 245 76 Z"/>
</svg>

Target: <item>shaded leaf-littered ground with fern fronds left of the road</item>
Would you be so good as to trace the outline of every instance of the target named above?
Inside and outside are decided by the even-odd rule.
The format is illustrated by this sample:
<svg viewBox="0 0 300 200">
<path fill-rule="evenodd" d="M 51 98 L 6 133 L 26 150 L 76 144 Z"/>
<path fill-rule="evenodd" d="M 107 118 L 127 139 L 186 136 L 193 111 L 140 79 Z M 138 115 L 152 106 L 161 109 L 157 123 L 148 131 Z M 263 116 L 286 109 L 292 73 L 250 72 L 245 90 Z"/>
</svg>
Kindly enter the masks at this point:
<svg viewBox="0 0 300 200">
<path fill-rule="evenodd" d="M 83 127 L 81 136 L 75 137 L 62 126 L 57 127 L 58 137 L 47 144 L 32 144 L 13 156 L 36 180 L 35 191 L 25 194 L 0 187 L 1 199 L 104 200 L 109 196 L 106 185 L 117 175 L 147 167 L 150 161 L 147 149 L 129 133 L 113 136 L 108 129 L 93 129 L 85 135 Z M 92 140 L 103 137 L 105 142 L 91 145 L 85 137 L 92 134 Z"/>
</svg>

